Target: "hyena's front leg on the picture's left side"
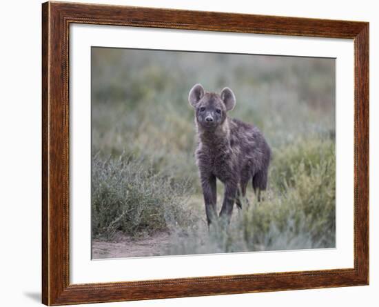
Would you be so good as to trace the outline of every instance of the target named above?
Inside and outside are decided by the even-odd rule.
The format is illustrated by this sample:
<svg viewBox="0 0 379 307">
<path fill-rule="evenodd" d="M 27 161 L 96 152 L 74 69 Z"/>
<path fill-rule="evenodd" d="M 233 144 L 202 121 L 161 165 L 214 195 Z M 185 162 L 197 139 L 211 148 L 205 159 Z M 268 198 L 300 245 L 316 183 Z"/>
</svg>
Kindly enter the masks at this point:
<svg viewBox="0 0 379 307">
<path fill-rule="evenodd" d="M 216 202 L 216 177 L 214 175 L 201 176 L 201 188 L 203 189 L 203 197 L 205 203 L 205 213 L 207 214 L 208 226 L 212 220 L 217 217 Z"/>
</svg>

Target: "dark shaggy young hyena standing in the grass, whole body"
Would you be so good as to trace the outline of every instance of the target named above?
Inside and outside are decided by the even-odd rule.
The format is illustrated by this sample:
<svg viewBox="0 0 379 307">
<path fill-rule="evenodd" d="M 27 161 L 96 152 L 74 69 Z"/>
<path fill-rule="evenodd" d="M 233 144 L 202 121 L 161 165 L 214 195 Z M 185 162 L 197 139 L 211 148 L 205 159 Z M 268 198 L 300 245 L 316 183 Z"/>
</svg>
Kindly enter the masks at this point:
<svg viewBox="0 0 379 307">
<path fill-rule="evenodd" d="M 196 164 L 200 170 L 208 225 L 216 217 L 216 178 L 225 185 L 220 216 L 230 221 L 234 202 L 241 208 L 240 195 L 252 186 L 260 201 L 260 190 L 267 187 L 271 150 L 255 126 L 227 117 L 236 105 L 234 93 L 224 88 L 221 94 L 205 92 L 201 84 L 190 91 L 189 103 L 195 109 L 198 134 Z"/>
</svg>

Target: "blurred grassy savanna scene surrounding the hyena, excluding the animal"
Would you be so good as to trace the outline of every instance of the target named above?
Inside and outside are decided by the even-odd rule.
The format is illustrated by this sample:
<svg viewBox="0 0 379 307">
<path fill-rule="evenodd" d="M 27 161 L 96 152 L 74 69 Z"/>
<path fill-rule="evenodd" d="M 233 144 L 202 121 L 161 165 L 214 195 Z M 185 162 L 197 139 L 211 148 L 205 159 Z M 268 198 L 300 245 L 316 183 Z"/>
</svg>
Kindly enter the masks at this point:
<svg viewBox="0 0 379 307">
<path fill-rule="evenodd" d="M 334 59 L 92 48 L 92 257 L 334 248 Z M 265 199 L 207 229 L 189 89 L 236 95 L 229 112 L 273 151 Z M 218 210 L 223 186 L 218 184 Z"/>
</svg>

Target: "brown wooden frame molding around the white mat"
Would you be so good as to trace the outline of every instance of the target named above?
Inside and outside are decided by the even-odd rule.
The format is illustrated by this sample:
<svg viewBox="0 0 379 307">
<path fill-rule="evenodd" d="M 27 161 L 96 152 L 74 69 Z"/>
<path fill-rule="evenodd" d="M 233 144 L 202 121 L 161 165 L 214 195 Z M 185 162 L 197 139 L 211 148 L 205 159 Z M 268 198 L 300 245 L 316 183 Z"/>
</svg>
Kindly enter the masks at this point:
<svg viewBox="0 0 379 307">
<path fill-rule="evenodd" d="M 70 23 L 354 39 L 354 268 L 70 284 Z M 42 140 L 43 304 L 84 304 L 369 284 L 369 23 L 82 3 L 43 3 Z"/>
</svg>

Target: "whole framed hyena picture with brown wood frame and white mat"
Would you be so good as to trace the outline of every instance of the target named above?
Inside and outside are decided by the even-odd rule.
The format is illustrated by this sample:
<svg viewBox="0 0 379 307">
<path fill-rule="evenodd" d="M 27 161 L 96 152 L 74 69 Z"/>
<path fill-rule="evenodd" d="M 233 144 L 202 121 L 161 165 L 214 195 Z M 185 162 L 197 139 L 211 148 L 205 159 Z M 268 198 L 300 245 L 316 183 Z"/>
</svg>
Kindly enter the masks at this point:
<svg viewBox="0 0 379 307">
<path fill-rule="evenodd" d="M 369 23 L 42 24 L 43 304 L 369 284 Z"/>
</svg>

